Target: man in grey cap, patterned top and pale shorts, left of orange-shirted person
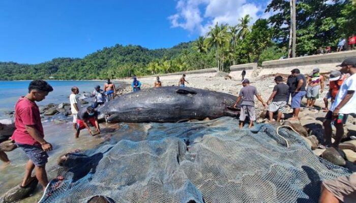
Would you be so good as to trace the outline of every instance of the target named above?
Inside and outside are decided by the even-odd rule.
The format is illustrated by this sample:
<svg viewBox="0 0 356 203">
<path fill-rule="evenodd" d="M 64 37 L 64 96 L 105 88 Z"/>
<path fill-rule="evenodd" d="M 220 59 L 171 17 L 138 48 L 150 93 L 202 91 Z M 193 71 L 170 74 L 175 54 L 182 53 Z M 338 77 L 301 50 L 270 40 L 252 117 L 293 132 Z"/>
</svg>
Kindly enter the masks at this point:
<svg viewBox="0 0 356 203">
<path fill-rule="evenodd" d="M 315 100 L 319 98 L 319 91 L 324 91 L 325 78 L 320 75 L 320 69 L 315 67 L 313 74 L 308 77 L 307 83 L 307 108 L 314 108 Z"/>
</svg>

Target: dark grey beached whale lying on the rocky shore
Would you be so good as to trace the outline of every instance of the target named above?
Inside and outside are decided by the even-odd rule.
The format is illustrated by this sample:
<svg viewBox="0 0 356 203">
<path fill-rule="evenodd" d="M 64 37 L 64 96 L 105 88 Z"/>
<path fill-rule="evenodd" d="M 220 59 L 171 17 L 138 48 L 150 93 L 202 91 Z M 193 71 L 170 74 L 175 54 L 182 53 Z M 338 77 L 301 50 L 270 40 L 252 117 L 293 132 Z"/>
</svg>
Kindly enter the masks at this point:
<svg viewBox="0 0 356 203">
<path fill-rule="evenodd" d="M 176 122 L 185 119 L 236 117 L 236 96 L 189 87 L 160 87 L 131 92 L 98 109 L 109 122 Z"/>
</svg>

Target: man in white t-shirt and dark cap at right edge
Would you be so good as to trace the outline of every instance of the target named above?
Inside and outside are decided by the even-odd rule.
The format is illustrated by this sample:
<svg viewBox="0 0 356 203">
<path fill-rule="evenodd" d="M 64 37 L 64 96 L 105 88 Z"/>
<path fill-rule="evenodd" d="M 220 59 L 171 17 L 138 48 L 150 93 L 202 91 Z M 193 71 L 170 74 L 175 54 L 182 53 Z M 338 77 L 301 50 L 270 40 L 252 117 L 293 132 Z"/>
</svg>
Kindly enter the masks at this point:
<svg viewBox="0 0 356 203">
<path fill-rule="evenodd" d="M 350 74 L 339 88 L 339 92 L 336 94 L 334 103 L 331 105 L 329 112 L 325 116 L 323 122 L 325 129 L 324 145 L 326 147 L 334 147 L 338 149 L 342 136 L 344 135 L 344 127 L 348 114 L 356 113 L 356 57 L 346 58 L 340 65 L 340 72 L 344 74 Z M 335 142 L 332 144 L 332 126 L 331 123 L 334 120 L 336 128 Z"/>
</svg>

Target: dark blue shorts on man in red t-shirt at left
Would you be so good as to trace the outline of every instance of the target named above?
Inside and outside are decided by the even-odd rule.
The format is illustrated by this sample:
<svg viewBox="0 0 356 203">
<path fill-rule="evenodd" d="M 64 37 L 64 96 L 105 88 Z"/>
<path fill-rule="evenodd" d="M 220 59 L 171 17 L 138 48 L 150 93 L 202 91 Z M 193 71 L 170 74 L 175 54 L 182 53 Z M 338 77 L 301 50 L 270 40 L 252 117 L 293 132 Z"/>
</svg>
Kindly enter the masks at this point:
<svg viewBox="0 0 356 203">
<path fill-rule="evenodd" d="M 43 166 L 48 162 L 48 154 L 43 151 L 41 145 L 26 145 L 19 143 L 16 143 L 16 145 L 25 152 L 27 157 L 31 159 L 36 166 Z"/>
</svg>

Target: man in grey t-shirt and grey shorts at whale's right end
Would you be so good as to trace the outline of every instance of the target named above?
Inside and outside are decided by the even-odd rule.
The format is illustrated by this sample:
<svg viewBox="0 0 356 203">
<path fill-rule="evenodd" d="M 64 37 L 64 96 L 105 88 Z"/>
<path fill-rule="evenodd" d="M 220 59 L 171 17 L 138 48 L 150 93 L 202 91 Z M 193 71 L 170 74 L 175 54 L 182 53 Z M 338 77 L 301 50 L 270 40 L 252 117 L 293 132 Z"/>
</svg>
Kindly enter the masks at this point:
<svg viewBox="0 0 356 203">
<path fill-rule="evenodd" d="M 253 96 L 255 95 L 257 99 L 261 101 L 264 107 L 266 106 L 266 104 L 263 102 L 261 95 L 257 92 L 256 87 L 250 85 L 250 81 L 248 79 L 245 79 L 242 82 L 242 86 L 244 87 L 240 90 L 239 97 L 238 99 L 236 99 L 236 103 L 234 104 L 233 108 L 236 108 L 236 106 L 242 100 L 242 103 L 240 105 L 240 128 L 244 126 L 246 116 L 249 116 L 250 118 L 249 128 L 251 128 L 253 126 L 253 122 L 256 120 L 255 99 Z"/>
</svg>

